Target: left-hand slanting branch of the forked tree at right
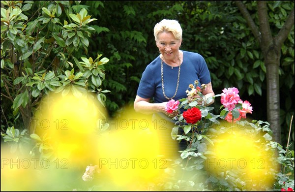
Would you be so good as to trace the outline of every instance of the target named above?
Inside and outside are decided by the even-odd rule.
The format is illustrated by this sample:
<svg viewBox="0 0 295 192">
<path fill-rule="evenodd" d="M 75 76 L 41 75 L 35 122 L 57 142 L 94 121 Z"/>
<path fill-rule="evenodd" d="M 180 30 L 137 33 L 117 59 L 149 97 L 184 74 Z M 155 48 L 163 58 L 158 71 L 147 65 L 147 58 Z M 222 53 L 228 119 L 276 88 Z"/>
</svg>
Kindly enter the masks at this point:
<svg viewBox="0 0 295 192">
<path fill-rule="evenodd" d="M 246 19 L 246 22 L 247 22 L 248 26 L 250 27 L 251 31 L 253 32 L 255 38 L 258 40 L 259 43 L 261 43 L 261 33 L 259 32 L 258 27 L 256 26 L 255 22 L 253 21 L 246 6 L 240 0 L 237 0 L 235 2 L 236 2 L 236 6 L 239 8 L 242 15 Z"/>
</svg>

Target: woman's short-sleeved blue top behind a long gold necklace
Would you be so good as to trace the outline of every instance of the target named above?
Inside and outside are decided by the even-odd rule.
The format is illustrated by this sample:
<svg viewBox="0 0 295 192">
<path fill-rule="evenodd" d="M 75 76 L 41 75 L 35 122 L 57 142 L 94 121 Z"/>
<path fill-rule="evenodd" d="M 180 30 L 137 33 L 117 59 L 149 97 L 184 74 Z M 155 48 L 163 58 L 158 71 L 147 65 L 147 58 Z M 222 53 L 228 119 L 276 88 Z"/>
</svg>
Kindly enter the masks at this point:
<svg viewBox="0 0 295 192">
<path fill-rule="evenodd" d="M 202 84 L 211 82 L 210 72 L 205 59 L 198 53 L 182 51 L 183 62 L 180 66 L 179 86 L 174 100 L 187 97 L 185 92 L 189 84 L 199 81 L 199 87 Z M 174 96 L 177 87 L 178 67 L 173 67 L 163 62 L 163 82 L 165 95 L 169 98 Z M 155 103 L 168 101 L 162 91 L 161 80 L 161 58 L 158 56 L 146 67 L 143 72 L 137 95 L 142 98 L 154 98 Z"/>
</svg>

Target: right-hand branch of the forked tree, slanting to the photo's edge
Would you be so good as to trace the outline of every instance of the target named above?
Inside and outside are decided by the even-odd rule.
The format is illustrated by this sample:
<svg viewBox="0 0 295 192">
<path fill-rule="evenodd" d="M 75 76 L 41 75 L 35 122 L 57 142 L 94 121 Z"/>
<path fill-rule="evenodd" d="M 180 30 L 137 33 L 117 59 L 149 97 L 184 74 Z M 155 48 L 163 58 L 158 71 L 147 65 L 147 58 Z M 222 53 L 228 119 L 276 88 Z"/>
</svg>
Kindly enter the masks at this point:
<svg viewBox="0 0 295 192">
<path fill-rule="evenodd" d="M 288 34 L 292 30 L 292 27 L 294 26 L 294 7 L 290 13 L 290 15 L 287 18 L 287 21 L 285 22 L 282 29 L 279 31 L 278 35 L 275 38 L 275 42 L 278 48 L 282 47 L 282 44 L 288 37 Z"/>
</svg>

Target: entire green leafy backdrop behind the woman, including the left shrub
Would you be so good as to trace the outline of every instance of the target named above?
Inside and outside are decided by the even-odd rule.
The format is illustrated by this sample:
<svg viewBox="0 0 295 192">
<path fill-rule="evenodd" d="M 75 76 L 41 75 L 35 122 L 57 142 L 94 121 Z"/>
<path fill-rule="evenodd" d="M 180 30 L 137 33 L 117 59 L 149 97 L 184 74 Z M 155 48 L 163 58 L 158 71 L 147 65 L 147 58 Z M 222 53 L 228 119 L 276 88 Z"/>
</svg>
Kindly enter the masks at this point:
<svg viewBox="0 0 295 192">
<path fill-rule="evenodd" d="M 127 105 L 132 107 L 142 72 L 159 54 L 153 27 L 163 18 L 181 24 L 182 50 L 204 56 L 215 94 L 224 88 L 238 88 L 241 99 L 253 106 L 253 114 L 247 117 L 267 121 L 264 58 L 234 1 L 5 1 L 14 8 L 23 3 L 22 15 L 11 14 L 9 29 L 3 24 L 11 15 L 2 14 L 2 2 L 1 142 L 11 141 L 15 146 L 26 142 L 29 118 L 39 99 L 61 85 L 76 84 L 97 93 L 111 117 Z M 257 22 L 257 1 L 243 3 Z M 267 1 L 273 34 L 282 28 L 293 7 L 294 1 Z M 91 16 L 91 22 L 86 15 Z M 13 57 L 14 50 L 20 61 Z M 279 86 L 285 147 L 294 115 L 294 27 L 281 51 Z M 213 104 L 217 111 L 213 113 L 218 113 L 219 106 L 217 99 Z M 79 110 L 79 106 L 72 107 Z M 49 148 L 45 136 L 30 137 L 37 141 L 35 147 L 40 153 Z M 280 153 L 285 153 L 279 147 Z M 281 160 L 285 163 L 291 159 L 288 156 Z M 289 179 L 281 175 L 276 189 L 283 181 Z"/>
</svg>

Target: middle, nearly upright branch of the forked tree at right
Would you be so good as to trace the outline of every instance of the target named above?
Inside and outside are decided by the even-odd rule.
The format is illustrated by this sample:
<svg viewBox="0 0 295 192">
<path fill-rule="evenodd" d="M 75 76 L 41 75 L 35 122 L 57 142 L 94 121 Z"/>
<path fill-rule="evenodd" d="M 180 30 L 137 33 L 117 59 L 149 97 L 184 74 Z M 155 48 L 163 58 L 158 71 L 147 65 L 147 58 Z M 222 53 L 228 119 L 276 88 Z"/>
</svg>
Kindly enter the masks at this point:
<svg viewBox="0 0 295 192">
<path fill-rule="evenodd" d="M 268 22 L 266 1 L 264 0 L 257 1 L 257 12 L 258 12 L 258 19 L 259 19 L 259 26 L 260 26 L 259 29 L 262 34 L 263 45 L 265 45 L 267 49 L 273 43 L 273 39 L 271 36 L 271 31 L 270 31 L 269 22 Z"/>
</svg>

